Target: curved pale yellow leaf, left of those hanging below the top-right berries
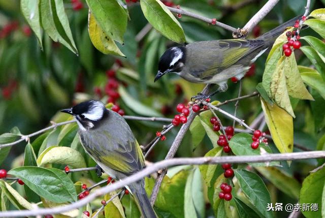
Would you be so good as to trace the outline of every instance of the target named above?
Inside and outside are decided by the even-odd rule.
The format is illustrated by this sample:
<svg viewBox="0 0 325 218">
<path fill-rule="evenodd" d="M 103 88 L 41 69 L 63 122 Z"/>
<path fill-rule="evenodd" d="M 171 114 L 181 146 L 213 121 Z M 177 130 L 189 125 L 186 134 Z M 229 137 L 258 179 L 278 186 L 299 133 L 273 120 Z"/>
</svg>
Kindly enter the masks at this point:
<svg viewBox="0 0 325 218">
<path fill-rule="evenodd" d="M 278 61 L 275 72 L 272 76 L 272 81 L 270 84 L 271 97 L 274 99 L 275 103 L 286 110 L 291 116 L 295 117 L 293 108 L 291 107 L 288 90 L 286 87 L 285 75 L 284 75 L 284 58 L 282 56 Z"/>
</svg>

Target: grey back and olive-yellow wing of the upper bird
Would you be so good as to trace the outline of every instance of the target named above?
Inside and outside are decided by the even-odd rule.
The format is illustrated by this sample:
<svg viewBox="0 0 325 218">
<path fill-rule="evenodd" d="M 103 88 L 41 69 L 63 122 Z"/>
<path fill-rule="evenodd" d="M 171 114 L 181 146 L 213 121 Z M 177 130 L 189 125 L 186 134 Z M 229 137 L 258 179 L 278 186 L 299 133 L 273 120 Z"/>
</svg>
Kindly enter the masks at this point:
<svg viewBox="0 0 325 218">
<path fill-rule="evenodd" d="M 199 45 L 199 47 L 201 47 L 202 50 L 200 51 L 201 55 L 207 55 L 202 59 L 202 61 L 204 61 L 203 63 L 206 63 L 206 65 L 203 65 L 204 67 L 202 69 L 195 70 L 195 68 L 193 68 L 194 74 L 197 74 L 201 80 L 207 80 L 215 74 L 220 73 L 222 70 L 236 63 L 240 63 L 240 60 L 243 60 L 247 55 L 252 54 L 253 58 L 255 53 L 257 54 L 262 50 L 258 48 L 263 48 L 264 45 L 264 40 L 230 39 L 205 42 L 204 46 Z M 194 46 L 198 47 L 198 45 Z M 207 52 L 209 50 L 210 52 Z M 250 59 L 247 63 L 241 64 L 246 64 L 246 66 L 248 66 L 250 64 Z"/>
</svg>

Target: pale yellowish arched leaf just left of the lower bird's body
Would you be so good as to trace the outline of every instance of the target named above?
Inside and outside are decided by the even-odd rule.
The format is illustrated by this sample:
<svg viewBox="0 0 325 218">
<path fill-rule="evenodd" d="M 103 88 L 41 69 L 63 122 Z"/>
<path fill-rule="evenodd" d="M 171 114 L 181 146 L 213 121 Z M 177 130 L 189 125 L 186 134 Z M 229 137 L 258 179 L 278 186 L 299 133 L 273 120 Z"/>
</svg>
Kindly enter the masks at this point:
<svg viewBox="0 0 325 218">
<path fill-rule="evenodd" d="M 70 147 L 51 146 L 45 149 L 37 159 L 40 167 L 46 164 L 64 164 L 74 168 L 86 167 L 81 153 Z"/>
</svg>

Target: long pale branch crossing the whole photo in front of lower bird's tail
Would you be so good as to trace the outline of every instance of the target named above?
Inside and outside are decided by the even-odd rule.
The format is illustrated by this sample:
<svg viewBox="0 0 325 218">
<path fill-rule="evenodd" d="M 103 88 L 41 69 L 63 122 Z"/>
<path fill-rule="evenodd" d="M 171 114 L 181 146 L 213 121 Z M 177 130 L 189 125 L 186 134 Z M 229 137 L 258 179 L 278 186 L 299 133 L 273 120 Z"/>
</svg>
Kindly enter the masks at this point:
<svg viewBox="0 0 325 218">
<path fill-rule="evenodd" d="M 184 126 L 184 125 L 183 125 Z M 202 164 L 224 164 L 224 163 L 266 163 L 272 161 L 295 161 L 305 159 L 325 158 L 325 151 L 307 151 L 294 153 L 268 153 L 264 155 L 241 155 L 241 156 L 222 156 L 222 157 L 201 157 L 201 158 L 175 158 L 157 162 L 145 169 L 111 185 L 104 186 L 93 191 L 87 197 L 65 206 L 52 208 L 38 208 L 32 210 L 11 210 L 0 212 L 0 217 L 35 216 L 42 214 L 57 214 L 80 208 L 95 198 L 110 193 L 114 190 L 123 188 L 125 185 L 136 182 L 145 176 L 150 175 L 160 169 L 165 169 L 179 165 L 202 165 Z"/>
</svg>

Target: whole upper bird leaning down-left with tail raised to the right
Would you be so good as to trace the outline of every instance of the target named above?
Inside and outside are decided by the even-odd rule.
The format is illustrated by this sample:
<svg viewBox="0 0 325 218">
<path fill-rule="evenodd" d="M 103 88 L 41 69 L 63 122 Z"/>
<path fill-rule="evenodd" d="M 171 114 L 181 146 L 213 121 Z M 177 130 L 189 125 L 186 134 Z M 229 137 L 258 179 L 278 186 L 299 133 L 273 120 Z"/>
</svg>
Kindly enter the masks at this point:
<svg viewBox="0 0 325 218">
<path fill-rule="evenodd" d="M 218 84 L 218 89 L 211 94 L 199 93 L 194 99 L 210 98 L 217 92 L 224 92 L 228 89 L 228 79 L 242 79 L 251 64 L 300 17 L 290 19 L 256 39 L 199 41 L 171 47 L 159 59 L 154 82 L 168 73 L 176 73 L 189 82 Z"/>
</svg>

